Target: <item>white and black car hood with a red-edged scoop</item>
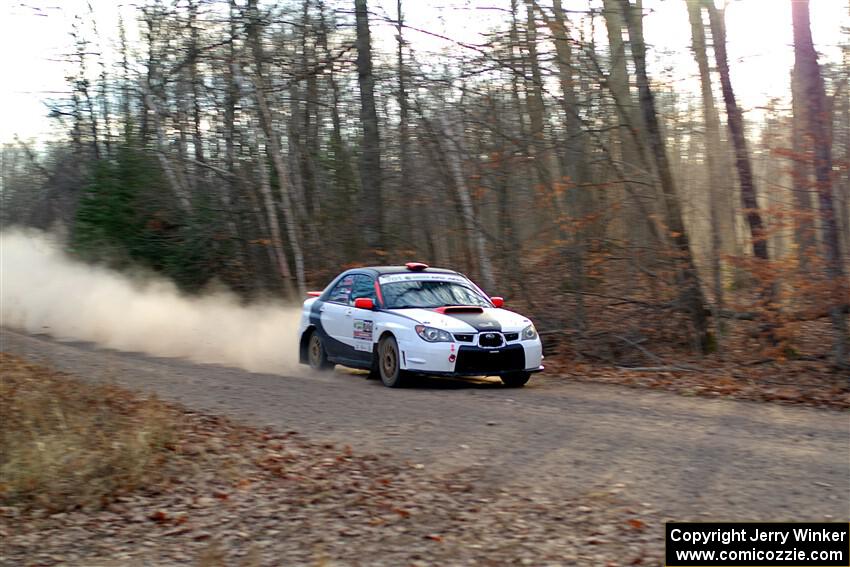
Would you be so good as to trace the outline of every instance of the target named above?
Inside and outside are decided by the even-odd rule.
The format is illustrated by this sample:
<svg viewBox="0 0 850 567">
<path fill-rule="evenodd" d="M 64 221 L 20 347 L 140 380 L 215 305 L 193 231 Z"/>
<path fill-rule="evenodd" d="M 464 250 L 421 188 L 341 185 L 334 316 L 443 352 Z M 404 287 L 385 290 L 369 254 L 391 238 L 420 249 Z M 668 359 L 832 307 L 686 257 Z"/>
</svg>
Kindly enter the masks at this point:
<svg viewBox="0 0 850 567">
<path fill-rule="evenodd" d="M 389 309 L 390 313 L 403 315 L 422 325 L 436 327 L 452 333 L 484 331 L 521 331 L 531 324 L 527 317 L 495 307 L 481 310 L 452 310 L 442 313 L 435 309 Z"/>
</svg>

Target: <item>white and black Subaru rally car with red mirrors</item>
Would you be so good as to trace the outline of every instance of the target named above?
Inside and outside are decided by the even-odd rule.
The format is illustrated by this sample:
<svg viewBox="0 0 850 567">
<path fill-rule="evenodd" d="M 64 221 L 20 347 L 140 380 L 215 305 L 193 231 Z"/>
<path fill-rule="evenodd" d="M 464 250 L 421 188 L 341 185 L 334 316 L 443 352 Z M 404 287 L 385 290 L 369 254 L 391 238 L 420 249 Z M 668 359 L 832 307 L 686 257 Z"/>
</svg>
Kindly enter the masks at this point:
<svg viewBox="0 0 850 567">
<path fill-rule="evenodd" d="M 362 368 L 391 388 L 410 374 L 499 376 L 519 387 L 543 370 L 531 321 L 452 270 L 418 262 L 354 268 L 310 295 L 299 360 L 315 370 Z"/>
</svg>

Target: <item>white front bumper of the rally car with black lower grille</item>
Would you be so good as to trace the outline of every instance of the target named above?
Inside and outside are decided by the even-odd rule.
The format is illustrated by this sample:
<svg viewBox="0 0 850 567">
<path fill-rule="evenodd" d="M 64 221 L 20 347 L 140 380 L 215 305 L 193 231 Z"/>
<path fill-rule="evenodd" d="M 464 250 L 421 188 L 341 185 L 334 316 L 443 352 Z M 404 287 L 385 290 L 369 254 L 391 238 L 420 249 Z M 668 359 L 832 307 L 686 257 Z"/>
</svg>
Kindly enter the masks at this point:
<svg viewBox="0 0 850 567">
<path fill-rule="evenodd" d="M 504 376 L 543 370 L 539 340 L 517 341 L 499 348 L 458 343 L 426 343 L 418 337 L 399 343 L 402 368 L 417 374 Z"/>
</svg>

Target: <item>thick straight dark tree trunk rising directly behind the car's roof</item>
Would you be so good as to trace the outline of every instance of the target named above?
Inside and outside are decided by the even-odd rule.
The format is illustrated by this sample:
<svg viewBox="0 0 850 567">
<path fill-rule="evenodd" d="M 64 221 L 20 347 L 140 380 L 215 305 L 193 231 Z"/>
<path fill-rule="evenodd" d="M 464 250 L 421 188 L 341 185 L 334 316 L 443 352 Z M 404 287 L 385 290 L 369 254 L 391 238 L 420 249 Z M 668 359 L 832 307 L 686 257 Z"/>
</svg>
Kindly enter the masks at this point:
<svg viewBox="0 0 850 567">
<path fill-rule="evenodd" d="M 368 254 L 377 259 L 384 248 L 381 143 L 375 109 L 375 77 L 372 74 L 372 40 L 366 0 L 354 0 L 357 22 L 357 82 L 360 86 L 360 122 L 363 148 L 360 152 L 360 230 Z"/>
</svg>

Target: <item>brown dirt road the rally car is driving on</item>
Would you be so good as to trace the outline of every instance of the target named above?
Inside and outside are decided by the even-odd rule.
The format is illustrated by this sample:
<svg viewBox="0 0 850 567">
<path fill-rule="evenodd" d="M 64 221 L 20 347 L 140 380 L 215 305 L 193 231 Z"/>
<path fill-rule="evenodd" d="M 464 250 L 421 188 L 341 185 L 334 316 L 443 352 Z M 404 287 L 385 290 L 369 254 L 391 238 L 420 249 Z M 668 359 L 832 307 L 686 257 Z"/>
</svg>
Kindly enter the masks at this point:
<svg viewBox="0 0 850 567">
<path fill-rule="evenodd" d="M 364 375 L 252 374 L 2 330 L 2 350 L 188 407 L 553 494 L 602 487 L 675 520 L 850 517 L 850 415 L 578 384 L 520 390 Z"/>
</svg>

